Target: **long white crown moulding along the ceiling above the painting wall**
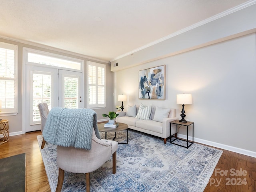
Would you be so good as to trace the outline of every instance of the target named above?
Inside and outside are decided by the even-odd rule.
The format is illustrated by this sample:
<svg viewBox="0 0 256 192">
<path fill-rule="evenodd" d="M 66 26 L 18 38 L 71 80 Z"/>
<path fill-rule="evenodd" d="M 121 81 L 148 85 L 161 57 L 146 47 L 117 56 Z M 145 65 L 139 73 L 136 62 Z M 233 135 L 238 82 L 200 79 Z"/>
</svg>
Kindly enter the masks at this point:
<svg viewBox="0 0 256 192">
<path fill-rule="evenodd" d="M 152 45 L 155 45 L 155 44 L 158 44 L 158 43 L 160 43 L 160 42 L 163 42 L 163 41 L 165 41 L 165 40 L 167 40 L 167 39 L 170 39 L 170 38 L 172 38 L 172 37 L 174 37 L 174 36 L 178 36 L 178 35 L 180 35 L 180 34 L 182 34 L 182 33 L 184 33 L 184 32 L 187 32 L 187 31 L 189 31 L 189 30 L 192 30 L 192 29 L 194 29 L 194 28 L 197 28 L 197 27 L 199 27 L 199 26 L 202 26 L 202 25 L 204 25 L 204 24 L 207 24 L 207 23 L 209 23 L 209 22 L 212 22 L 212 21 L 214 21 L 214 20 L 217 20 L 217 19 L 219 19 L 219 18 L 222 18 L 222 17 L 224 17 L 224 16 L 227 16 L 227 15 L 229 15 L 229 14 L 231 14 L 231 13 L 234 13 L 234 12 L 236 12 L 236 11 L 239 11 L 239 10 L 241 10 L 241 9 L 244 9 L 244 8 L 246 8 L 246 7 L 248 7 L 248 6 L 253 5 L 253 4 L 256 4 L 256 0 L 251 0 L 251 1 L 245 2 L 244 4 L 241 4 L 241 5 L 239 5 L 239 6 L 236 6 L 236 7 L 234 7 L 234 8 L 231 8 L 231 9 L 229 9 L 229 10 L 226 10 L 226 11 L 224 11 L 224 12 L 222 12 L 222 13 L 219 13 L 219 14 L 217 14 L 217 15 L 215 15 L 215 16 L 212 16 L 212 17 L 210 17 L 210 18 L 207 18 L 207 19 L 205 19 L 205 20 L 202 20 L 202 21 L 200 21 L 200 22 L 198 22 L 198 23 L 196 23 L 196 24 L 193 24 L 193 25 L 188 26 L 188 27 L 186 27 L 186 28 L 184 28 L 184 29 L 182 29 L 182 30 L 179 30 L 179 31 L 177 31 L 177 32 L 174 32 L 174 33 L 172 33 L 172 34 L 170 34 L 170 35 L 168 35 L 168 36 L 165 36 L 165 37 L 160 38 L 160 39 L 158 39 L 158 40 L 156 40 L 156 41 L 154 41 L 154 42 L 151 42 L 151 43 L 149 43 L 149 44 L 146 44 L 146 45 L 144 45 L 144 46 L 142 46 L 142 47 L 140 47 L 140 48 L 137 48 L 137 49 L 132 50 L 132 51 L 130 51 L 130 52 L 128 52 L 128 53 L 125 53 L 125 54 L 122 54 L 122 55 L 120 55 L 120 56 L 118 56 L 118 57 L 116 57 L 116 58 L 113 58 L 112 60 L 110 60 L 110 62 L 113 62 L 113 61 L 115 61 L 115 60 L 118 60 L 118 59 L 120 59 L 120 58 L 123 58 L 123 57 L 125 57 L 125 56 L 128 56 L 128 55 L 130 55 L 130 54 L 134 54 L 135 52 L 138 52 L 138 51 L 140 51 L 140 50 L 143 50 L 143 49 L 145 49 L 145 48 L 148 48 L 148 47 L 150 47 L 150 46 L 152 46 Z"/>
</svg>

